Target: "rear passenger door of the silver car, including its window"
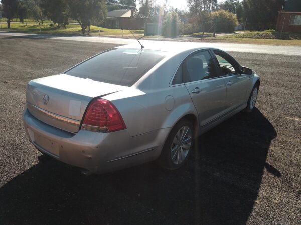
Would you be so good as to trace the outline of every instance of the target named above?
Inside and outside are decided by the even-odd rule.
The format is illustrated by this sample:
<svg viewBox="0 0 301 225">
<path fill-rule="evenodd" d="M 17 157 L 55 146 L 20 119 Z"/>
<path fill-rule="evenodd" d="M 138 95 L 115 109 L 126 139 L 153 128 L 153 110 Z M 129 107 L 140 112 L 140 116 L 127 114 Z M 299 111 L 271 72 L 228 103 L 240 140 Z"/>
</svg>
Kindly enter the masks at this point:
<svg viewBox="0 0 301 225">
<path fill-rule="evenodd" d="M 184 84 L 198 111 L 200 125 L 221 116 L 226 106 L 226 86 L 216 73 L 216 64 L 209 50 L 188 56 L 184 61 Z"/>
</svg>

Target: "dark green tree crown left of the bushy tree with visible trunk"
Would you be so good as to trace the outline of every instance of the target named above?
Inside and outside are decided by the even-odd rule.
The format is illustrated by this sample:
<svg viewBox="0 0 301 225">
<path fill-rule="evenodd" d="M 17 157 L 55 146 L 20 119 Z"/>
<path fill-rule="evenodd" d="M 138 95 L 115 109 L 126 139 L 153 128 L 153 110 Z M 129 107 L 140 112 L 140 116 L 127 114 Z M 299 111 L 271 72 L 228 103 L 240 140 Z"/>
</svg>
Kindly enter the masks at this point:
<svg viewBox="0 0 301 225">
<path fill-rule="evenodd" d="M 69 10 L 65 0 L 42 0 L 41 7 L 43 13 L 59 27 L 68 24 Z"/>
</svg>

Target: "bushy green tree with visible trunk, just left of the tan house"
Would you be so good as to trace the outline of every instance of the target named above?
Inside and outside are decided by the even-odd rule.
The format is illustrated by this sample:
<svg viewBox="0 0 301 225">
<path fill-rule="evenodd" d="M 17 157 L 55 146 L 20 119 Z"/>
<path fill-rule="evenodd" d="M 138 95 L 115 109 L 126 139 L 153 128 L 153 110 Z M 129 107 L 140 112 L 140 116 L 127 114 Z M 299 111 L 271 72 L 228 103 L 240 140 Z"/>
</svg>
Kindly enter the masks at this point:
<svg viewBox="0 0 301 225">
<path fill-rule="evenodd" d="M 86 28 L 90 31 L 92 22 L 102 23 L 106 16 L 105 0 L 66 0 L 71 18 L 75 19 L 82 33 Z"/>
</svg>

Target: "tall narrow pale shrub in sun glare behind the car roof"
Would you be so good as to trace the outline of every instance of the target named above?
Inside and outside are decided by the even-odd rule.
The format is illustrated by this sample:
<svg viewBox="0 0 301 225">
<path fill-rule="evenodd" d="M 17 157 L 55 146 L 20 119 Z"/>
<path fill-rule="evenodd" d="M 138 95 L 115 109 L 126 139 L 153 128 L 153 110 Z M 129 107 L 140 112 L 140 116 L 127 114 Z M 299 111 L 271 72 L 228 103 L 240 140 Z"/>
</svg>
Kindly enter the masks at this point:
<svg viewBox="0 0 301 225">
<path fill-rule="evenodd" d="M 162 35 L 177 37 L 179 35 L 180 20 L 176 12 L 167 13 L 162 22 Z"/>
</svg>

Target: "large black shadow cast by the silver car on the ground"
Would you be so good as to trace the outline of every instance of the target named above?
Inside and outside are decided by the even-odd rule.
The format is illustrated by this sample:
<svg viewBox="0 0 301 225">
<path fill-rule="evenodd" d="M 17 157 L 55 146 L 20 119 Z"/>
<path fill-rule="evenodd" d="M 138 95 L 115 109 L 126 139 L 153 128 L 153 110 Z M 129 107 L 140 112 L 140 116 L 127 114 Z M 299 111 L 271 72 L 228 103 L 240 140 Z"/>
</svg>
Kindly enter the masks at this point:
<svg viewBox="0 0 301 225">
<path fill-rule="evenodd" d="M 1 224 L 244 224 L 258 196 L 276 131 L 257 109 L 197 139 L 188 163 L 154 163 L 84 176 L 55 160 L 0 188 Z"/>
</svg>

